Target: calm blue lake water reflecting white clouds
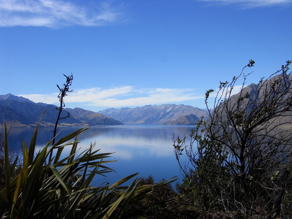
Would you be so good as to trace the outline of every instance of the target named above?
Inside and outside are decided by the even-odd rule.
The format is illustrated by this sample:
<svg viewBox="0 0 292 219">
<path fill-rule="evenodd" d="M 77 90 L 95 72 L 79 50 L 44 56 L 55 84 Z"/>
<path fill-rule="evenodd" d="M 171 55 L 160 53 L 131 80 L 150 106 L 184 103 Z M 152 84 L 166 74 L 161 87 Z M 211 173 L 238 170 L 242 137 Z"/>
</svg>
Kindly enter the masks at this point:
<svg viewBox="0 0 292 219">
<path fill-rule="evenodd" d="M 178 163 L 173 152 L 173 134 L 183 137 L 189 135 L 192 126 L 166 126 L 166 125 L 120 125 L 120 126 L 92 126 L 79 135 L 80 151 L 86 150 L 91 142 L 96 142 L 95 149 L 100 152 L 116 152 L 114 159 L 118 161 L 108 164 L 116 173 L 108 173 L 105 182 L 110 184 L 117 180 L 139 173 L 138 176 L 152 175 L 155 181 L 162 178 L 171 178 L 180 174 Z M 37 138 L 37 148 L 41 149 L 53 136 L 53 128 L 40 128 Z M 65 136 L 79 128 L 60 128 L 60 136 Z M 3 133 L 3 130 L 0 130 Z M 9 147 L 20 150 L 20 140 L 24 139 L 29 145 L 33 128 L 13 128 L 8 135 Z M 188 141 L 187 141 L 188 142 Z M 70 147 L 63 150 L 69 153 Z M 95 178 L 98 185 L 101 178 Z"/>
</svg>

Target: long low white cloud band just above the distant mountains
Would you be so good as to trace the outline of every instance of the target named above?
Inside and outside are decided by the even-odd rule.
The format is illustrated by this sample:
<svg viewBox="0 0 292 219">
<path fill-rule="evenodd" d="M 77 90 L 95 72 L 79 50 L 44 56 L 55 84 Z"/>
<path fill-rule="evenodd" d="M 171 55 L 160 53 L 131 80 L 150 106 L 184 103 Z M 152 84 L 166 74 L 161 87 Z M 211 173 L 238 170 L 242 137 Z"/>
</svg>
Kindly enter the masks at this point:
<svg viewBox="0 0 292 219">
<path fill-rule="evenodd" d="M 57 104 L 58 94 L 19 94 L 34 102 L 45 102 Z M 90 88 L 74 90 L 65 97 L 66 103 L 79 103 L 81 105 L 96 107 L 124 107 L 144 106 L 149 104 L 181 103 L 186 100 L 202 99 L 204 95 L 194 93 L 193 89 L 172 89 L 172 88 L 142 88 L 136 89 L 133 86 L 119 88 L 101 89 Z"/>
</svg>

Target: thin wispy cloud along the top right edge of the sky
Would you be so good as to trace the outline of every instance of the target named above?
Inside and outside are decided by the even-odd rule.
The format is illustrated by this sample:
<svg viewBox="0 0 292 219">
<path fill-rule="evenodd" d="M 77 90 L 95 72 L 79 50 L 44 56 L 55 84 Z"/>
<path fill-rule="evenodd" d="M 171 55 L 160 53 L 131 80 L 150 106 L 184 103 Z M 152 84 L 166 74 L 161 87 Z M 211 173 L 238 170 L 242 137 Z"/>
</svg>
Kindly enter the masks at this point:
<svg viewBox="0 0 292 219">
<path fill-rule="evenodd" d="M 291 3 L 292 0 L 197 0 L 206 1 L 219 4 L 240 4 L 244 7 L 260 7 L 260 6 L 273 6 L 273 5 L 284 5 Z"/>
</svg>

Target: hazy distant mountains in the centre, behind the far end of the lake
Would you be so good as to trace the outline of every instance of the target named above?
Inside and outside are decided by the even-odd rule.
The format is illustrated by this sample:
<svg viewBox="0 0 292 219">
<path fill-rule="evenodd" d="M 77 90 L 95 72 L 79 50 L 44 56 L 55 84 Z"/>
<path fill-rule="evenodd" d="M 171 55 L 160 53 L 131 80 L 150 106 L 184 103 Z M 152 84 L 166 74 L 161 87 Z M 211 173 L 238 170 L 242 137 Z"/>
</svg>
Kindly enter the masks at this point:
<svg viewBox="0 0 292 219">
<path fill-rule="evenodd" d="M 199 118 L 201 116 L 208 118 L 208 112 L 205 110 L 183 104 L 146 105 L 144 107 L 121 109 L 108 108 L 99 111 L 99 113 L 128 124 L 164 124 L 190 114 Z"/>
</svg>

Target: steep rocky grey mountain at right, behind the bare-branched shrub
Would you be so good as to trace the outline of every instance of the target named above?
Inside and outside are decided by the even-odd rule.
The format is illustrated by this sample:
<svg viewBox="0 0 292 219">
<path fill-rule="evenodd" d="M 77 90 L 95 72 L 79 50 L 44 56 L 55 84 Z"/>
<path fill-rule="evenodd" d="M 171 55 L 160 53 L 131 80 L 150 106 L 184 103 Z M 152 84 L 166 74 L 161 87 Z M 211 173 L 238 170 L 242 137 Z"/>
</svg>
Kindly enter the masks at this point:
<svg viewBox="0 0 292 219">
<path fill-rule="evenodd" d="M 275 81 L 280 82 L 273 85 Z M 245 120 L 248 120 L 249 116 L 255 119 L 260 119 L 262 117 L 267 117 L 268 114 L 277 114 L 276 112 L 281 111 L 284 107 L 281 103 L 285 103 L 287 106 L 289 102 L 292 102 L 291 81 L 291 74 L 279 74 L 268 80 L 264 80 L 259 84 L 250 84 L 243 88 L 242 92 L 234 94 L 225 100 L 225 102 L 222 102 L 217 108 L 217 113 L 220 115 L 222 121 L 227 120 L 227 117 L 230 116 L 227 115 L 226 112 L 239 112 L 236 111 L 236 109 L 245 112 L 242 114 Z M 288 90 L 286 93 L 283 93 L 285 87 L 287 87 Z M 275 96 L 277 96 L 276 102 L 276 99 L 273 99 Z M 240 101 L 240 99 L 242 100 Z M 224 108 L 222 107 L 223 105 L 225 105 Z M 277 118 L 273 117 L 266 123 L 267 126 L 279 125 L 279 127 L 291 127 L 291 124 L 291 109 L 279 114 Z"/>
</svg>

